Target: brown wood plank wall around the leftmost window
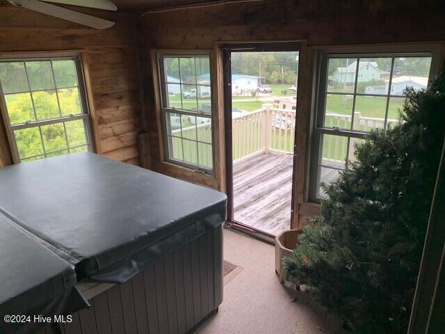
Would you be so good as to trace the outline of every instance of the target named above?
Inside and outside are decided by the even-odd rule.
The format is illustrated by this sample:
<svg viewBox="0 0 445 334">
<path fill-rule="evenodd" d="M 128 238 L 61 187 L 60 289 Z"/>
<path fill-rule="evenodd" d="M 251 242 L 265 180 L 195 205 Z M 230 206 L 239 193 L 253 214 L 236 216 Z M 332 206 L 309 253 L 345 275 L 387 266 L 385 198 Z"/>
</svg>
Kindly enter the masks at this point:
<svg viewBox="0 0 445 334">
<path fill-rule="evenodd" d="M 143 129 L 143 122 L 135 19 L 125 14 L 92 14 L 113 19 L 116 24 L 99 31 L 26 9 L 0 6 L 0 54 L 81 52 L 97 153 L 138 165 L 136 134 Z"/>
</svg>

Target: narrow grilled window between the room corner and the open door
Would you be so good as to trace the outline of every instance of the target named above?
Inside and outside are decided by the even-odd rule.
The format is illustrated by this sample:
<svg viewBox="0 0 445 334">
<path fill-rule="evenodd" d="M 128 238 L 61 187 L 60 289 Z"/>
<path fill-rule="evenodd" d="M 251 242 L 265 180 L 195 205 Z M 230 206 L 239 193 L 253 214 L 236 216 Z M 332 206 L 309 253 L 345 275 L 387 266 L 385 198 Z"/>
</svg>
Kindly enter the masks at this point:
<svg viewBox="0 0 445 334">
<path fill-rule="evenodd" d="M 209 54 L 159 54 L 161 116 L 168 161 L 213 170 Z"/>
</svg>

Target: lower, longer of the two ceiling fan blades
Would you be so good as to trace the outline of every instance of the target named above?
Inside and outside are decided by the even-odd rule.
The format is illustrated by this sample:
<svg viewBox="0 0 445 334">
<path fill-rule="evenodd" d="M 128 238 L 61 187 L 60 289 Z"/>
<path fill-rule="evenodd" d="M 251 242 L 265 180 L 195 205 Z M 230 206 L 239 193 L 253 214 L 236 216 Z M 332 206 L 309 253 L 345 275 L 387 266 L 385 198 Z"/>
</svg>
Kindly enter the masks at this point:
<svg viewBox="0 0 445 334">
<path fill-rule="evenodd" d="M 9 0 L 8 0 L 9 1 Z M 100 19 L 91 15 L 76 12 L 67 8 L 51 5 L 38 0 L 12 0 L 15 6 L 23 7 L 35 12 L 51 15 L 60 19 L 82 24 L 83 26 L 90 26 L 95 29 L 107 29 L 114 25 L 114 22 L 106 19 Z"/>
</svg>

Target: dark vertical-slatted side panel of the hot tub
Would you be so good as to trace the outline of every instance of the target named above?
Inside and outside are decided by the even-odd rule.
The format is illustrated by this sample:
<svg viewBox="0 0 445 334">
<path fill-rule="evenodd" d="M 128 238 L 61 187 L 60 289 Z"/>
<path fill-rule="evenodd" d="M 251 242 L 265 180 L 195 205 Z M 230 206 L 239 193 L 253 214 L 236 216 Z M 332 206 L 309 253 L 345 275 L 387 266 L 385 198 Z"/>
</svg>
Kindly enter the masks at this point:
<svg viewBox="0 0 445 334">
<path fill-rule="evenodd" d="M 72 314 L 64 334 L 184 334 L 223 301 L 223 227 L 160 257 Z M 39 332 L 36 334 L 44 334 Z M 48 332 L 46 332 L 48 333 Z"/>
</svg>

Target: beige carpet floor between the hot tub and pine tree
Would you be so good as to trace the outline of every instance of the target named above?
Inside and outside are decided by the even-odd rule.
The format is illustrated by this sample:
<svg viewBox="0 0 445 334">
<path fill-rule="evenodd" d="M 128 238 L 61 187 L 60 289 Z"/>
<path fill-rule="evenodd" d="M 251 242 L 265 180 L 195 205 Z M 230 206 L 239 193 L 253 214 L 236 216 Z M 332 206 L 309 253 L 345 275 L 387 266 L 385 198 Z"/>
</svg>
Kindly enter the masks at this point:
<svg viewBox="0 0 445 334">
<path fill-rule="evenodd" d="M 324 318 L 295 301 L 275 275 L 275 248 L 231 230 L 224 231 L 224 258 L 236 265 L 225 277 L 224 301 L 200 334 L 331 333 Z M 232 276 L 229 278 L 229 276 Z M 229 278 L 229 279 L 228 279 Z"/>
</svg>

